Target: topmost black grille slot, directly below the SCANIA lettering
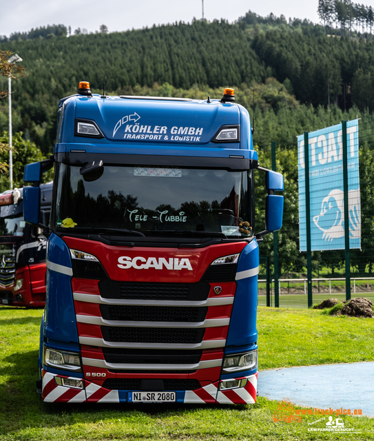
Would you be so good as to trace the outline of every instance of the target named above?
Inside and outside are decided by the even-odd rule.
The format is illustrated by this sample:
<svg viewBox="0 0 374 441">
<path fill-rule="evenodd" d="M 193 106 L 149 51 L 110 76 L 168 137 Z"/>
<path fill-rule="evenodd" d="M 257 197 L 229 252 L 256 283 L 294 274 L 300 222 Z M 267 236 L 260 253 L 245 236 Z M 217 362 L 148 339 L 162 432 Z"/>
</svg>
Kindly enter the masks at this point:
<svg viewBox="0 0 374 441">
<path fill-rule="evenodd" d="M 209 296 L 210 285 L 197 283 L 119 282 L 104 279 L 98 283 L 103 298 L 135 300 L 203 301 Z"/>
</svg>

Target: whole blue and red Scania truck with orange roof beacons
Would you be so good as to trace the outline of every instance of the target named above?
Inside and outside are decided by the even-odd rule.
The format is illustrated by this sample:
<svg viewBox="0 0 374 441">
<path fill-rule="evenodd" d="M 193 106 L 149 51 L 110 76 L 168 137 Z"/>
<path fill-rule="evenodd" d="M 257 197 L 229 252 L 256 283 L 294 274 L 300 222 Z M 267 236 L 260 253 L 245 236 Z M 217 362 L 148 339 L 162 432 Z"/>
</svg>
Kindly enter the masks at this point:
<svg viewBox="0 0 374 441">
<path fill-rule="evenodd" d="M 52 163 L 43 400 L 256 402 L 258 243 L 282 225 L 283 178 L 258 164 L 233 90 L 100 96 L 81 82 L 59 103 L 54 154 L 25 167 L 28 223 Z"/>
</svg>

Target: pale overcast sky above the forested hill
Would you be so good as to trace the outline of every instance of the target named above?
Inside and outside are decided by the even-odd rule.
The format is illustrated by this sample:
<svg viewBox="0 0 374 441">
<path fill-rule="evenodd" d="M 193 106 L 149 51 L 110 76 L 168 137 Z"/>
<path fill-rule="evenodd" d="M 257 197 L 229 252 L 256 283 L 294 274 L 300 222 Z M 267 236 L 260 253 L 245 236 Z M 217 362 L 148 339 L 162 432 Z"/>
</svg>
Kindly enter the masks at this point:
<svg viewBox="0 0 374 441">
<path fill-rule="evenodd" d="M 365 4 L 374 4 L 368 0 Z M 230 23 L 249 10 L 266 17 L 271 12 L 289 19 L 307 18 L 318 23 L 318 0 L 204 0 L 208 21 L 225 18 Z M 26 32 L 52 24 L 95 32 L 107 25 L 109 32 L 141 29 L 154 24 L 202 18 L 202 0 L 1 0 L 0 35 Z"/>
</svg>

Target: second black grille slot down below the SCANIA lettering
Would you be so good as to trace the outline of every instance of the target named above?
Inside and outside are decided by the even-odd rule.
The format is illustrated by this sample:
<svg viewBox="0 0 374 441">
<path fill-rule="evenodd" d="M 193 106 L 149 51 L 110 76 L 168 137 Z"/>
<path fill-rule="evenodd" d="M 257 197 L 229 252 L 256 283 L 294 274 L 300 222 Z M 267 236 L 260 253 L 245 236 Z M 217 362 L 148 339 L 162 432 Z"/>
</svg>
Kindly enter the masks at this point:
<svg viewBox="0 0 374 441">
<path fill-rule="evenodd" d="M 141 322 L 203 322 L 208 307 L 100 305 L 105 320 Z"/>
</svg>

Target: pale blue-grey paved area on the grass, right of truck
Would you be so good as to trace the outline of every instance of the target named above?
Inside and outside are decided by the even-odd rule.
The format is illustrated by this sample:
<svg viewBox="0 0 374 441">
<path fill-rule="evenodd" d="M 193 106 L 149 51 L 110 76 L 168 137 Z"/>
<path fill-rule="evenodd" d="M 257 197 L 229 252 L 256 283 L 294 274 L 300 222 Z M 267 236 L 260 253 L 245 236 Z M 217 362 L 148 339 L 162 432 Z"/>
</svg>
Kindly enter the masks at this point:
<svg viewBox="0 0 374 441">
<path fill-rule="evenodd" d="M 374 416 L 374 362 L 258 372 L 258 395 L 318 409 L 362 409 Z"/>
</svg>

